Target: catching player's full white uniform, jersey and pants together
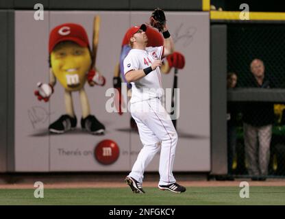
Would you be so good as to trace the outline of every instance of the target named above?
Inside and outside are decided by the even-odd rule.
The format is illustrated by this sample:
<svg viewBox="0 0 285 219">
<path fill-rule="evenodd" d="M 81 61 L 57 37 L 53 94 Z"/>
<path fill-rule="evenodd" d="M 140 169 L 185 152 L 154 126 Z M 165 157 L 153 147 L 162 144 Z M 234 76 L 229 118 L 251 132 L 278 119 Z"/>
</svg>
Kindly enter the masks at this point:
<svg viewBox="0 0 285 219">
<path fill-rule="evenodd" d="M 153 60 L 162 58 L 164 47 L 147 47 L 145 50 L 132 49 L 124 60 L 124 73 L 151 66 Z M 132 72 L 128 73 L 132 74 Z M 162 80 L 160 68 L 156 68 L 145 77 L 132 82 L 130 112 L 136 124 L 143 149 L 134 163 L 129 177 L 143 183 L 145 168 L 154 155 L 160 151 L 159 185 L 175 183 L 173 163 L 177 145 L 177 133 L 169 114 L 162 106 Z M 140 111 L 147 109 L 147 112 Z"/>
</svg>

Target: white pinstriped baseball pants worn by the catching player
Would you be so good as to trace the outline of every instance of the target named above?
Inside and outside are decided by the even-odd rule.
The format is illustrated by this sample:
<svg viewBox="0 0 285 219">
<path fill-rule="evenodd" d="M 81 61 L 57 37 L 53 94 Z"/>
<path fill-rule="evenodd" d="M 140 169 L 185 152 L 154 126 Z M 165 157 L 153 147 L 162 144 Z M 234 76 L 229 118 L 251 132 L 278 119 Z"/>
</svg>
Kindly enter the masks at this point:
<svg viewBox="0 0 285 219">
<path fill-rule="evenodd" d="M 145 168 L 161 147 L 159 185 L 175 183 L 172 170 L 177 145 L 177 132 L 160 99 L 132 103 L 130 110 L 138 125 L 143 149 L 138 154 L 129 176 L 143 183 Z"/>
</svg>

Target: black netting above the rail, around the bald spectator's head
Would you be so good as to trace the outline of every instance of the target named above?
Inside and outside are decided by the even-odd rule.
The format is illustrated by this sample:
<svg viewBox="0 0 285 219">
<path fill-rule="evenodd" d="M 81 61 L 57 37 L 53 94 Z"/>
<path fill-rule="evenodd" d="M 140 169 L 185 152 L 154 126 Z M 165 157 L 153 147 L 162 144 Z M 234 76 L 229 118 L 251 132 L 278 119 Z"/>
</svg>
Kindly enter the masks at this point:
<svg viewBox="0 0 285 219">
<path fill-rule="evenodd" d="M 254 58 L 264 62 L 276 88 L 285 88 L 285 25 L 227 25 L 227 71 L 243 87 Z"/>
</svg>

